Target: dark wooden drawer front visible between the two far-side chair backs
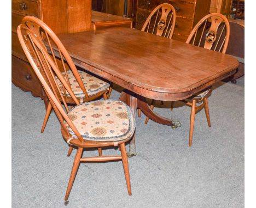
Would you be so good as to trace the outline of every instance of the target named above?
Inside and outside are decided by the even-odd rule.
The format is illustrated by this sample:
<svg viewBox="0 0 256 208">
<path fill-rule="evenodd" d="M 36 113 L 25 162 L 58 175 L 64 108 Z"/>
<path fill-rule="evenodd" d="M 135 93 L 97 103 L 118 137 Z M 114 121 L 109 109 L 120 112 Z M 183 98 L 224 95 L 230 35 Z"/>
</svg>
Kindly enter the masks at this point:
<svg viewBox="0 0 256 208">
<path fill-rule="evenodd" d="M 177 17 L 173 34 L 189 35 L 193 29 L 193 21 L 186 18 Z"/>
</svg>

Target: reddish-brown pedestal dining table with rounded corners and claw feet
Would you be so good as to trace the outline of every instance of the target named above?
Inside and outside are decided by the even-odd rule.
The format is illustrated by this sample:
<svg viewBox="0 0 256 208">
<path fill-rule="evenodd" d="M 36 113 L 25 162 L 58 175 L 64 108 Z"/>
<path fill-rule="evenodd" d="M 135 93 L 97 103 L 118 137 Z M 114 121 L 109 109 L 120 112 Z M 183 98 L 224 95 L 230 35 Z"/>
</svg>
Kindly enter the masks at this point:
<svg viewBox="0 0 256 208">
<path fill-rule="evenodd" d="M 181 123 L 152 111 L 145 97 L 186 99 L 231 76 L 239 64 L 227 54 L 131 28 L 60 34 L 59 38 L 75 65 L 125 88 L 120 100 L 135 115 L 139 108 L 149 119 L 173 127 Z M 129 155 L 136 155 L 135 136 Z"/>
</svg>

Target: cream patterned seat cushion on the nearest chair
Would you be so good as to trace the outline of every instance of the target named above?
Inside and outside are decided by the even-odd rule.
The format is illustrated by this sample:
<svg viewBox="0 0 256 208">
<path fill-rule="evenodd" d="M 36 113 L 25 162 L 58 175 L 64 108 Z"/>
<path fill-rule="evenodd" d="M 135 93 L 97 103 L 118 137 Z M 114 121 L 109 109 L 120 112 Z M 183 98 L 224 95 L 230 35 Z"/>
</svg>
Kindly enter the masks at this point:
<svg viewBox="0 0 256 208">
<path fill-rule="evenodd" d="M 119 141 L 131 137 L 135 130 L 135 116 L 131 108 L 118 100 L 82 103 L 72 108 L 68 117 L 85 140 Z"/>
</svg>

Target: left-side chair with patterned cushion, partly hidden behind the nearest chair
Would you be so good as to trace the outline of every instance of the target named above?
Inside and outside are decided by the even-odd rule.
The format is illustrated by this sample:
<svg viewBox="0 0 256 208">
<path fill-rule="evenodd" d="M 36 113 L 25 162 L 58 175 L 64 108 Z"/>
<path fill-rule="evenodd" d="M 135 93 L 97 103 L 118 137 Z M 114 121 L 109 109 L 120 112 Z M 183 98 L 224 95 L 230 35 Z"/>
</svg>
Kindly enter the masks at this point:
<svg viewBox="0 0 256 208">
<path fill-rule="evenodd" d="M 39 20 L 37 17 L 33 16 L 25 16 L 22 19 L 22 23 L 30 28 L 34 34 L 37 35 L 36 38 L 38 38 L 44 45 L 47 44 L 49 46 L 49 53 L 51 56 L 53 56 L 57 69 L 62 72 L 80 103 L 96 100 L 102 96 L 104 99 L 109 99 L 113 84 L 109 84 L 108 82 L 103 81 L 101 78 L 92 76 L 82 70 L 77 70 L 60 39 L 42 20 Z M 59 53 L 61 59 L 57 59 L 55 57 L 55 53 Z M 59 79 L 57 79 L 57 82 L 61 85 Z M 71 106 L 75 105 L 74 101 L 67 92 L 62 90 L 62 95 L 67 104 Z M 61 97 L 59 97 L 59 99 L 62 100 Z M 52 106 L 51 103 L 49 103 L 48 107 L 46 108 L 46 114 L 41 129 L 42 133 L 44 132 L 46 123 L 49 119 L 51 109 Z"/>
</svg>

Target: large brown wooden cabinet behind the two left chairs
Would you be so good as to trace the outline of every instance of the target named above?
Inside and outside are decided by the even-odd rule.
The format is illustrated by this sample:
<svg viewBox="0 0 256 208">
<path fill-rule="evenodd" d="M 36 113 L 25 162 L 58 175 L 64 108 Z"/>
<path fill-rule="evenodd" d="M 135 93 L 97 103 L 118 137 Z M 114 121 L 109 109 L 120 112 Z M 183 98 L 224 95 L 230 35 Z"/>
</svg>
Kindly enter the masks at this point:
<svg viewBox="0 0 256 208">
<path fill-rule="evenodd" d="M 11 1 L 11 81 L 32 95 L 46 96 L 21 48 L 16 29 L 24 16 L 36 16 L 55 33 L 91 30 L 91 0 L 12 0 Z"/>
</svg>

